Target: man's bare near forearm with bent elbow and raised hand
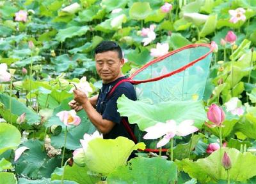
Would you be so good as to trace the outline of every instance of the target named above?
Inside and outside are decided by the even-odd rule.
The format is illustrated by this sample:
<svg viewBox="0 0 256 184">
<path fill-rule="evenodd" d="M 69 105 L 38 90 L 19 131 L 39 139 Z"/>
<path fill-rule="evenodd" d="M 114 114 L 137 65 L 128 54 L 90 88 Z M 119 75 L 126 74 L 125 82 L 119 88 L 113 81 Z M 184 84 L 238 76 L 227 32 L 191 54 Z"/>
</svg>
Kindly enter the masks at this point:
<svg viewBox="0 0 256 184">
<path fill-rule="evenodd" d="M 88 99 L 84 92 L 82 92 L 79 89 L 74 90 L 74 100 L 83 107 L 92 124 L 95 125 L 96 129 L 100 131 L 102 134 L 108 134 L 108 132 L 111 131 L 111 129 L 113 129 L 115 123 L 103 119 L 102 115 L 100 115 L 100 113 L 98 113 L 95 110 L 95 108 L 93 108 L 90 99 Z"/>
</svg>

